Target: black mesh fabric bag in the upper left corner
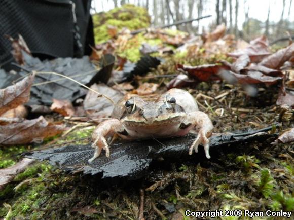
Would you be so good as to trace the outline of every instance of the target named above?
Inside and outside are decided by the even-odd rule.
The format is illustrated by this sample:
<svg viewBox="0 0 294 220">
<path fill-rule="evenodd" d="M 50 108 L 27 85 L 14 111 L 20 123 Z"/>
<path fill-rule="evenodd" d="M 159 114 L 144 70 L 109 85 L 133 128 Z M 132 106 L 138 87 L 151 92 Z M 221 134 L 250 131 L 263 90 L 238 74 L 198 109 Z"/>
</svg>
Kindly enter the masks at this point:
<svg viewBox="0 0 294 220">
<path fill-rule="evenodd" d="M 91 0 L 72 0 L 76 3 L 80 30 L 81 53 L 73 39 L 74 23 L 69 0 L 1 0 L 0 1 L 0 67 L 13 60 L 11 43 L 6 34 L 16 38 L 21 34 L 34 56 L 40 58 L 81 57 L 94 43 L 87 34 Z M 93 31 L 92 31 L 93 33 Z M 86 42 L 86 36 L 88 42 Z"/>
</svg>

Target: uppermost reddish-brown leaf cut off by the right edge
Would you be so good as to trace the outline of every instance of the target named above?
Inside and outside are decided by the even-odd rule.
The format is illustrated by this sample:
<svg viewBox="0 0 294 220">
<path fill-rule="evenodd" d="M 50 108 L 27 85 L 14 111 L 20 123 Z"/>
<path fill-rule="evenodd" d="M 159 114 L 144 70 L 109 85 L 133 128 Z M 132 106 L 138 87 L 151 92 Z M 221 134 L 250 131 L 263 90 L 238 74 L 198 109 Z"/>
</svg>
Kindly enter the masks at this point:
<svg viewBox="0 0 294 220">
<path fill-rule="evenodd" d="M 294 56 L 294 44 L 278 50 L 276 53 L 266 57 L 259 63 L 259 65 L 272 69 L 279 69 L 284 62 L 290 60 L 292 56 Z"/>
</svg>

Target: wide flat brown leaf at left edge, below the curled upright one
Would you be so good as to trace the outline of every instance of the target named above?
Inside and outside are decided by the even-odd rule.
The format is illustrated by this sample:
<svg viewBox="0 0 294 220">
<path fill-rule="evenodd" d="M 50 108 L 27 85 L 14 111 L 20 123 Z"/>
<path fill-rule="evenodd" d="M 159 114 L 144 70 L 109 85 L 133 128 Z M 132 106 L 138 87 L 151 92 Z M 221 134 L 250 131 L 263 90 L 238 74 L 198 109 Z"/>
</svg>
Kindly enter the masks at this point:
<svg viewBox="0 0 294 220">
<path fill-rule="evenodd" d="M 65 126 L 47 122 L 43 116 L 32 120 L 11 120 L 11 123 L 0 126 L 0 145 L 40 142 L 64 130 Z"/>
</svg>

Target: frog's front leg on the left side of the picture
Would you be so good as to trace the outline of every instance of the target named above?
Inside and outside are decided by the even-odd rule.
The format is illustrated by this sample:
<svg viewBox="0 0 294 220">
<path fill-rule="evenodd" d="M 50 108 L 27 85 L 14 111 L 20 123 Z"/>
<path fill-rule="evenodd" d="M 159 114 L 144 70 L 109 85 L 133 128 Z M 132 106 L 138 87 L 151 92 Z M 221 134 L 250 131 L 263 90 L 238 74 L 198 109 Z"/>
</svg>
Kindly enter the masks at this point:
<svg viewBox="0 0 294 220">
<path fill-rule="evenodd" d="M 109 157 L 109 147 L 106 141 L 107 136 L 113 135 L 115 132 L 119 132 L 122 129 L 122 125 L 118 119 L 109 119 L 101 122 L 92 133 L 92 147 L 95 148 L 94 156 L 88 160 L 91 163 L 97 157 L 99 157 L 102 149 L 105 150 L 106 157 Z"/>
</svg>

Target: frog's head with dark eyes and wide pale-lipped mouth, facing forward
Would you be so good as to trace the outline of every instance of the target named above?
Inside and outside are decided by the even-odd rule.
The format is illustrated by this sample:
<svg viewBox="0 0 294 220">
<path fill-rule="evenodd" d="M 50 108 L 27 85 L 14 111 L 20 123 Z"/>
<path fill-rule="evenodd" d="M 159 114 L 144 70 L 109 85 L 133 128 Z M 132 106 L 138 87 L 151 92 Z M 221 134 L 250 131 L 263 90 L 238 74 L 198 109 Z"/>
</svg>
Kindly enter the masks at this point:
<svg viewBox="0 0 294 220">
<path fill-rule="evenodd" d="M 186 115 L 176 98 L 165 93 L 161 96 L 125 96 L 116 106 L 120 121 L 126 126 L 162 126 L 172 124 Z"/>
</svg>

